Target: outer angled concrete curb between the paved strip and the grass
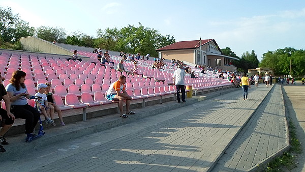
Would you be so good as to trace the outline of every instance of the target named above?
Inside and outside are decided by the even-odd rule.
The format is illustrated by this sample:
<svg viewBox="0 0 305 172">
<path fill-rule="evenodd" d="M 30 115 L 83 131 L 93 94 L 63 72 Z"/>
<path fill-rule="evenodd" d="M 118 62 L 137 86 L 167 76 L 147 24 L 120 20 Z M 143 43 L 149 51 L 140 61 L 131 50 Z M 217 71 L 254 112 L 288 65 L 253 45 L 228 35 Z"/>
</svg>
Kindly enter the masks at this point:
<svg viewBox="0 0 305 172">
<path fill-rule="evenodd" d="M 283 104 L 284 104 L 284 95 L 283 95 L 283 88 L 282 88 L 282 85 L 281 85 L 281 93 L 282 93 L 282 101 L 283 101 Z M 286 124 L 286 144 L 287 146 L 285 146 L 284 148 L 280 149 L 278 152 L 268 156 L 266 159 L 260 161 L 259 163 L 257 163 L 255 166 L 251 167 L 250 169 L 248 169 L 248 171 L 263 171 L 264 168 L 267 167 L 267 164 L 272 161 L 273 159 L 283 155 L 284 152 L 287 152 L 291 145 L 289 144 L 289 128 L 288 128 L 288 123 L 287 123 L 287 109 L 285 108 L 285 105 L 284 105 L 284 113 L 285 113 L 285 124 Z"/>
</svg>

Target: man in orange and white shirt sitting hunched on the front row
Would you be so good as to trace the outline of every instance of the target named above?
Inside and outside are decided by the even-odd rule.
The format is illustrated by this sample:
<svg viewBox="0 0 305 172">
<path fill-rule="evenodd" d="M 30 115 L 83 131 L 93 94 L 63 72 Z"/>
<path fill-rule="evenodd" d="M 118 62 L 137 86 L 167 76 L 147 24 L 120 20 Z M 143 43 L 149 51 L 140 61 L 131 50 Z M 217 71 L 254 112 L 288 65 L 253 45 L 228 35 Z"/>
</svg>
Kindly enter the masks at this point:
<svg viewBox="0 0 305 172">
<path fill-rule="evenodd" d="M 130 101 L 131 97 L 127 94 L 125 84 L 126 76 L 121 75 L 117 81 L 111 83 L 108 91 L 106 92 L 106 97 L 108 100 L 119 101 L 118 107 L 120 111 L 120 117 L 127 118 L 126 114 L 136 114 L 133 111 L 130 111 Z M 126 100 L 126 114 L 123 113 L 123 102 Z"/>
</svg>

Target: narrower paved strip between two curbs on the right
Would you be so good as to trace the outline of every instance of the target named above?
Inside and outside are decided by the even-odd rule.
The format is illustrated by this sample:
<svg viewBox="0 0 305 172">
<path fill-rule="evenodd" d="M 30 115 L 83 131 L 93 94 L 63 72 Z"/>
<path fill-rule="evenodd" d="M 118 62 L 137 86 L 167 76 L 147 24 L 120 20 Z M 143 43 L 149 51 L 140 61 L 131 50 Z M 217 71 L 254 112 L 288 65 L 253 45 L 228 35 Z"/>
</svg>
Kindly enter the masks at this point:
<svg viewBox="0 0 305 172">
<path fill-rule="evenodd" d="M 274 87 L 213 171 L 249 170 L 288 146 L 281 86 Z"/>
</svg>

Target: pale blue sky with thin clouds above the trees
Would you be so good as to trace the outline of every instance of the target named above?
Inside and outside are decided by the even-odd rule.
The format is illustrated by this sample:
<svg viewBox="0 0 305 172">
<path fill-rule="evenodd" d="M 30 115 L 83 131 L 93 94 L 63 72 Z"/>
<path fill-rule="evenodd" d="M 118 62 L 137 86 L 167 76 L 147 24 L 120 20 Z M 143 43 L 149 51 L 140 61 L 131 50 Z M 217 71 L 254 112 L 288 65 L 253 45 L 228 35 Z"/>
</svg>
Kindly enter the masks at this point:
<svg viewBox="0 0 305 172">
<path fill-rule="evenodd" d="M 305 1 L 24 1 L 0 0 L 30 26 L 64 28 L 96 37 L 98 28 L 128 24 L 154 28 L 178 41 L 215 39 L 236 55 L 279 48 L 304 49 Z"/>
</svg>

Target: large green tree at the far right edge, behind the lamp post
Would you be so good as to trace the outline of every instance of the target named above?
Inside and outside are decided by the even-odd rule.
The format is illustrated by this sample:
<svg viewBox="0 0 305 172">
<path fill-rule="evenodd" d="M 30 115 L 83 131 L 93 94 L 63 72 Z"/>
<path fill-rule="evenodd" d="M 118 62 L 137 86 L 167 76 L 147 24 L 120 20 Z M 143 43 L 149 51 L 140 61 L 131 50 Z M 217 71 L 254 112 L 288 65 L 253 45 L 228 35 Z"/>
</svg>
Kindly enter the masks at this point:
<svg viewBox="0 0 305 172">
<path fill-rule="evenodd" d="M 288 75 L 291 61 L 291 75 L 301 76 L 305 74 L 305 51 L 290 47 L 268 51 L 263 54 L 260 63 L 261 68 L 272 68 L 276 75 Z"/>
</svg>

